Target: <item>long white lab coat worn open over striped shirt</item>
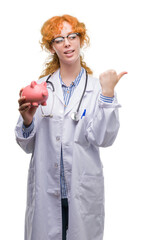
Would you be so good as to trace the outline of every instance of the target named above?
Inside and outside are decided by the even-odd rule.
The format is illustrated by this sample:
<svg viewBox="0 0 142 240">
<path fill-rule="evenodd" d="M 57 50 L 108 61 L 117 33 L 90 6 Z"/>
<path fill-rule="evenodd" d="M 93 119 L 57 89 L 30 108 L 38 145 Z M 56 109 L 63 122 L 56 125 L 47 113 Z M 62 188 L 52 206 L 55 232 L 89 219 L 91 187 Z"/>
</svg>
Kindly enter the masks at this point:
<svg viewBox="0 0 142 240">
<path fill-rule="evenodd" d="M 118 107 L 99 100 L 98 79 L 88 76 L 80 107 L 80 120 L 70 115 L 77 109 L 84 85 L 85 71 L 64 111 L 63 92 L 57 70 L 50 81 L 55 87 L 53 118 L 43 118 L 40 106 L 34 117 L 34 130 L 25 139 L 22 118 L 16 126 L 16 139 L 26 153 L 32 153 L 29 173 L 25 240 L 62 240 L 60 158 L 63 150 L 68 188 L 69 227 L 67 240 L 102 240 L 104 230 L 104 179 L 99 147 L 114 142 L 118 129 Z M 45 81 L 46 77 L 39 82 Z M 45 113 L 50 113 L 49 89 Z M 86 109 L 86 115 L 81 115 Z"/>
</svg>

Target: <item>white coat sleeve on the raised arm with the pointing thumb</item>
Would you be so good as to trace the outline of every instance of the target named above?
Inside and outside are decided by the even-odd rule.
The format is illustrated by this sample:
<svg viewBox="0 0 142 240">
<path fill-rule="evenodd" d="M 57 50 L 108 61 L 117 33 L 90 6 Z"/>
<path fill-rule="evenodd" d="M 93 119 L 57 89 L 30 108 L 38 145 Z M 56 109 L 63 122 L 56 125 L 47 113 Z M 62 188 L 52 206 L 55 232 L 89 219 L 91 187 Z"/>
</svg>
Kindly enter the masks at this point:
<svg viewBox="0 0 142 240">
<path fill-rule="evenodd" d="M 87 119 L 86 138 L 98 147 L 111 146 L 119 130 L 119 114 L 116 94 L 112 103 L 106 103 L 98 97 L 93 117 Z"/>
</svg>

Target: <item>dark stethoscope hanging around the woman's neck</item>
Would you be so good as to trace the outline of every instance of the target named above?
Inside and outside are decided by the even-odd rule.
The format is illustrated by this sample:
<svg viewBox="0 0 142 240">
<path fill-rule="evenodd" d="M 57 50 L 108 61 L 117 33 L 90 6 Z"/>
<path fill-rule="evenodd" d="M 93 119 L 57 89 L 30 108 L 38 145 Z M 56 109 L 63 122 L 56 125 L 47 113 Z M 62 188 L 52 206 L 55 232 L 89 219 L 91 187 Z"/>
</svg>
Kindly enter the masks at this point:
<svg viewBox="0 0 142 240">
<path fill-rule="evenodd" d="M 85 71 L 86 71 L 86 70 L 85 70 Z M 47 77 L 47 79 L 46 79 L 47 84 L 50 84 L 50 85 L 51 85 L 51 87 L 52 87 L 52 92 L 53 92 L 53 102 L 52 102 L 52 107 L 51 107 L 51 113 L 50 113 L 49 115 L 44 114 L 43 108 L 42 108 L 42 106 L 41 106 L 42 117 L 50 117 L 50 118 L 53 117 L 52 112 L 53 112 L 54 99 L 55 99 L 55 88 L 54 88 L 53 83 L 52 83 L 51 81 L 49 81 L 49 79 L 51 78 L 52 75 L 53 75 L 53 74 L 50 74 L 50 75 Z M 87 71 L 86 71 L 86 80 L 85 80 L 85 85 L 84 85 L 84 90 L 83 90 L 82 96 L 81 96 L 81 98 L 80 98 L 80 101 L 79 101 L 77 110 L 71 114 L 71 119 L 72 119 L 73 121 L 78 121 L 79 118 L 80 118 L 80 116 L 79 116 L 79 109 L 80 109 L 80 105 L 81 105 L 81 103 L 82 103 L 82 99 L 83 99 L 84 94 L 85 94 L 85 91 L 86 91 L 87 82 L 88 82 L 88 74 L 87 74 Z"/>
</svg>

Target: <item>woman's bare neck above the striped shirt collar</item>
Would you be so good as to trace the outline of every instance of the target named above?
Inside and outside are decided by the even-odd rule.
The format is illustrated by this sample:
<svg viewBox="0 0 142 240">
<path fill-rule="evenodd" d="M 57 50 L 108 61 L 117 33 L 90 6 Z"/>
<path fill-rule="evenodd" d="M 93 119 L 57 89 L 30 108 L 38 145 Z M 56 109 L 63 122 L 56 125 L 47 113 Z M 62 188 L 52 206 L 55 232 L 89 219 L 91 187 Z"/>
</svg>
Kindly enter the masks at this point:
<svg viewBox="0 0 142 240">
<path fill-rule="evenodd" d="M 78 76 L 81 71 L 80 60 L 74 64 L 61 64 L 60 63 L 60 74 L 62 81 L 69 86 Z"/>
</svg>

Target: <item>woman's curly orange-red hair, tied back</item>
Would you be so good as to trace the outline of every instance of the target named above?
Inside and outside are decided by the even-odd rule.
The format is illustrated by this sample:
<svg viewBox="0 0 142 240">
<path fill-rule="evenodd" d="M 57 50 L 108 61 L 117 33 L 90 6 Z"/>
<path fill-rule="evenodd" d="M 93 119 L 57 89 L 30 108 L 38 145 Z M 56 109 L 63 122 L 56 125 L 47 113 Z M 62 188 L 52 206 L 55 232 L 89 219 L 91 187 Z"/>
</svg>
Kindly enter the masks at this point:
<svg viewBox="0 0 142 240">
<path fill-rule="evenodd" d="M 63 16 L 55 16 L 47 20 L 42 28 L 41 28 L 41 35 L 42 40 L 40 42 L 42 49 L 46 51 L 50 51 L 51 49 L 51 40 L 54 38 L 55 35 L 60 34 L 63 22 L 68 22 L 72 26 L 72 30 L 74 32 L 80 33 L 80 45 L 83 47 L 85 44 L 88 46 L 90 39 L 86 34 L 86 27 L 84 23 L 78 21 L 77 18 L 70 16 L 70 15 L 63 15 Z M 81 66 L 86 69 L 88 74 L 92 74 L 92 70 L 87 67 L 86 63 L 83 61 L 83 57 L 80 56 Z M 42 72 L 42 75 L 39 77 L 44 77 L 48 74 L 52 74 L 60 67 L 59 58 L 56 53 L 50 56 L 50 60 L 45 63 L 45 69 Z"/>
</svg>

